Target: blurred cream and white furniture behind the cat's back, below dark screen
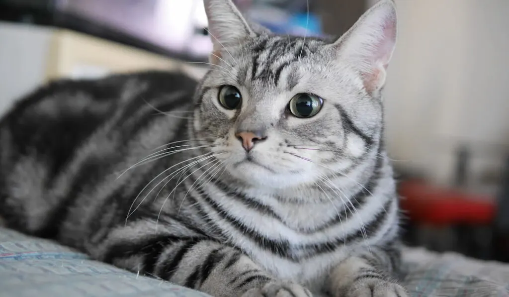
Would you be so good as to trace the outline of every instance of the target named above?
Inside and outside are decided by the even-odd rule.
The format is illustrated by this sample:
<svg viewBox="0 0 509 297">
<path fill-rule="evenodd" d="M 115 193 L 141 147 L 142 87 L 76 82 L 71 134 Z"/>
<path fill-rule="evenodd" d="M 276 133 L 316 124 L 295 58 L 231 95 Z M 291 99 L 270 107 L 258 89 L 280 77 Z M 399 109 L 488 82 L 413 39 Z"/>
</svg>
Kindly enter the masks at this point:
<svg viewBox="0 0 509 297">
<path fill-rule="evenodd" d="M 0 114 L 51 79 L 148 69 L 185 70 L 197 78 L 207 71 L 150 51 L 40 25 L 0 22 L 0 44 Z"/>
</svg>

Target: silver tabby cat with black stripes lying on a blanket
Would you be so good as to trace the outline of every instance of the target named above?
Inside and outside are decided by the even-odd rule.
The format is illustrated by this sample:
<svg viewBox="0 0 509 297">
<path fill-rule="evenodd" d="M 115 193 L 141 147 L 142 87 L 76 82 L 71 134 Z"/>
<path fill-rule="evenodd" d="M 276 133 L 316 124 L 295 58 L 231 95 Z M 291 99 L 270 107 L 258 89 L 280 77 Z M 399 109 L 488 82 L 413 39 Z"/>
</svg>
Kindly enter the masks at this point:
<svg viewBox="0 0 509 297">
<path fill-rule="evenodd" d="M 393 2 L 336 40 L 204 5 L 199 82 L 61 79 L 3 117 L 8 227 L 212 296 L 407 296 L 383 141 Z"/>
</svg>

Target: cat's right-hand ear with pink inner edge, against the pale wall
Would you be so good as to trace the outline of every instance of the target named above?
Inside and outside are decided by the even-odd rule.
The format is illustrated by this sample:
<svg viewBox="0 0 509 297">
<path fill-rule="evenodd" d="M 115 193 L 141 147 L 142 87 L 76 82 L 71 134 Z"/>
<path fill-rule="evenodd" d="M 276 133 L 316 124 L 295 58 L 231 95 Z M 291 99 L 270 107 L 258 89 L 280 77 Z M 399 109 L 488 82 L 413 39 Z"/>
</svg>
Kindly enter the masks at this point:
<svg viewBox="0 0 509 297">
<path fill-rule="evenodd" d="M 396 7 L 393 1 L 382 0 L 366 11 L 333 46 L 340 59 L 360 72 L 366 91 L 373 93 L 385 84 L 396 39 Z"/>
</svg>

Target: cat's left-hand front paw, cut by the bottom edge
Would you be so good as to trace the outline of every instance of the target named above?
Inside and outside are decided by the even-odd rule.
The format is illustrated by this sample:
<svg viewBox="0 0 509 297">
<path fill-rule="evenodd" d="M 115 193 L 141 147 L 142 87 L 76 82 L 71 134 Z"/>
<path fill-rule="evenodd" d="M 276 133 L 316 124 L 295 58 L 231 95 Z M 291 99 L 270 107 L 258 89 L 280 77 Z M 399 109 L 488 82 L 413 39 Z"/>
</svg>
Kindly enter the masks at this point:
<svg viewBox="0 0 509 297">
<path fill-rule="evenodd" d="M 294 282 L 273 281 L 262 288 L 252 288 L 242 297 L 313 297 L 311 292 Z"/>
</svg>

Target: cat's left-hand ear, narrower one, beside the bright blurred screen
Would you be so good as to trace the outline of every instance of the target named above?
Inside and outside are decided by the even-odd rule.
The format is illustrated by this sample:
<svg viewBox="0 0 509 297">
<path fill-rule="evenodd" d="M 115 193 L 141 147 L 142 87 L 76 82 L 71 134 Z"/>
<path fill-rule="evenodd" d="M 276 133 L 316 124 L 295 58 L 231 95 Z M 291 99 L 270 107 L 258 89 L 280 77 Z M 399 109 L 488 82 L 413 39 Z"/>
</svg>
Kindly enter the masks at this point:
<svg viewBox="0 0 509 297">
<path fill-rule="evenodd" d="M 214 45 L 210 60 L 217 64 L 223 49 L 228 51 L 229 47 L 245 42 L 255 33 L 231 0 L 204 0 L 203 3 Z"/>
</svg>

